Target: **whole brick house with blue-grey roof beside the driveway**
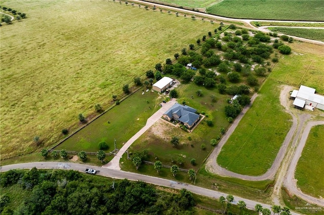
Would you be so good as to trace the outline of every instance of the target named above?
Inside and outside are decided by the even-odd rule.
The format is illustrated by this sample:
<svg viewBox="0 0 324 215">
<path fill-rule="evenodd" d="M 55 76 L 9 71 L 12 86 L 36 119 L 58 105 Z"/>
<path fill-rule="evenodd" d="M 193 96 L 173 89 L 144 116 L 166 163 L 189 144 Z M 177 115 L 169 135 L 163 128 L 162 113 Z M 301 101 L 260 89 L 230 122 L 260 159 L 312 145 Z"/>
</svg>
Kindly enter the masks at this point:
<svg viewBox="0 0 324 215">
<path fill-rule="evenodd" d="M 177 120 L 180 124 L 191 129 L 200 119 L 200 116 L 195 112 L 196 110 L 190 106 L 175 103 L 163 114 L 163 118 L 168 121 Z"/>
</svg>

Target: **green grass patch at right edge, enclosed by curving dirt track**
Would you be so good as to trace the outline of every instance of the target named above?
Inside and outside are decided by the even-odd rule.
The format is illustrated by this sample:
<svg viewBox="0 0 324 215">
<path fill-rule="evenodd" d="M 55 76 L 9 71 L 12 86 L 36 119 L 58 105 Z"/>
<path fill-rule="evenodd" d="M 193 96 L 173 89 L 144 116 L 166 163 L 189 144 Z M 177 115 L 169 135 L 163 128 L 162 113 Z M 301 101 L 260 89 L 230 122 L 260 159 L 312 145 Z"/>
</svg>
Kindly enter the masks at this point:
<svg viewBox="0 0 324 215">
<path fill-rule="evenodd" d="M 324 193 L 324 125 L 310 130 L 302 155 L 298 160 L 295 178 L 297 186 L 316 198 Z"/>
</svg>

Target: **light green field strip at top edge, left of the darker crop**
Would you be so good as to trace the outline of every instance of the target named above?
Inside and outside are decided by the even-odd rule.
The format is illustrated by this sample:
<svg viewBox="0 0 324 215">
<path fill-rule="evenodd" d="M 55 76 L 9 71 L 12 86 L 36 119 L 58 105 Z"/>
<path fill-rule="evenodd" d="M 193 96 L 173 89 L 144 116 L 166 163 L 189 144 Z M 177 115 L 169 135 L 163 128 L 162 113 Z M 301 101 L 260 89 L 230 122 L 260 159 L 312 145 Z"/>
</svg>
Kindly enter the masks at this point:
<svg viewBox="0 0 324 215">
<path fill-rule="evenodd" d="M 221 1 L 222 0 L 149 0 L 148 2 L 166 3 L 188 8 L 206 8 L 214 3 Z"/>
</svg>

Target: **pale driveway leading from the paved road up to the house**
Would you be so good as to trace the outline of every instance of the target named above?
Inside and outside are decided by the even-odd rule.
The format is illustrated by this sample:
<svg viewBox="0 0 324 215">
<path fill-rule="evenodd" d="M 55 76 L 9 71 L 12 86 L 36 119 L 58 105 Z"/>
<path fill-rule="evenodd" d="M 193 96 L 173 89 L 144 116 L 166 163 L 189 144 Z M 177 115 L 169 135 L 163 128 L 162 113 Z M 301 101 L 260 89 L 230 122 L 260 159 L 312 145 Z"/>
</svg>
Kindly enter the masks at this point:
<svg viewBox="0 0 324 215">
<path fill-rule="evenodd" d="M 141 130 L 139 130 L 133 137 L 131 137 L 124 144 L 124 146 L 119 149 L 119 151 L 114 156 L 114 158 L 112 158 L 112 160 L 110 160 L 110 162 L 108 164 L 104 165 L 103 168 L 109 168 L 109 169 L 113 169 L 113 170 L 120 170 L 119 160 L 120 160 L 121 156 L 124 155 L 125 151 L 127 151 L 127 149 L 135 142 L 135 140 L 137 140 L 157 120 L 159 120 L 162 117 L 162 115 L 166 111 L 168 111 L 168 109 L 170 109 L 172 105 L 174 105 L 176 103 L 176 101 L 177 100 L 175 98 L 173 98 L 171 101 L 168 101 L 167 103 L 162 103 L 162 107 L 157 112 L 155 112 L 150 118 L 147 119 L 146 125 Z"/>
</svg>

